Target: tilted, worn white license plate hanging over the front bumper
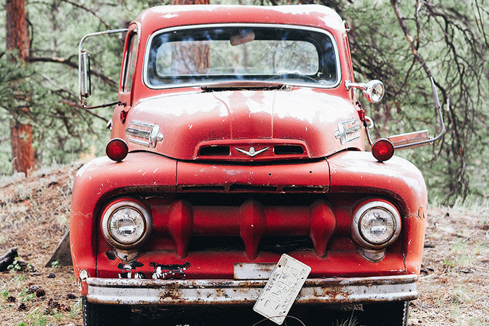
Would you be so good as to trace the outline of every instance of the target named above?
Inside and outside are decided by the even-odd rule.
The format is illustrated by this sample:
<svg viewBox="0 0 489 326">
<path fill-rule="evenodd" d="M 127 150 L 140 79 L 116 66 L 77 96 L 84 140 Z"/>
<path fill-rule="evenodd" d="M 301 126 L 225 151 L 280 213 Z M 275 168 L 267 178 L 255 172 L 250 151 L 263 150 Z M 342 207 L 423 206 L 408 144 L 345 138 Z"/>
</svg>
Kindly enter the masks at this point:
<svg viewBox="0 0 489 326">
<path fill-rule="evenodd" d="M 282 325 L 310 272 L 311 267 L 283 254 L 253 306 L 253 311 Z"/>
</svg>

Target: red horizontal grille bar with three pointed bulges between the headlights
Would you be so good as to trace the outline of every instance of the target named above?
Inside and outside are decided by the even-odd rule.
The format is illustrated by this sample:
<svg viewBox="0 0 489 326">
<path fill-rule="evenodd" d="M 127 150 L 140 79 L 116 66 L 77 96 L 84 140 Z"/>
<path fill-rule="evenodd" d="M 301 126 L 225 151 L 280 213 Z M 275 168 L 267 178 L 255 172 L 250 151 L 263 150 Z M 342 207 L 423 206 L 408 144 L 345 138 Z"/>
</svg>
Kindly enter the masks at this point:
<svg viewBox="0 0 489 326">
<path fill-rule="evenodd" d="M 154 230 L 171 236 L 178 258 L 187 256 L 192 236 L 238 236 L 251 260 L 258 256 L 264 236 L 309 236 L 315 253 L 324 257 L 336 227 L 335 213 L 324 200 L 309 206 L 266 207 L 250 199 L 217 209 L 178 200 L 156 215 Z"/>
</svg>

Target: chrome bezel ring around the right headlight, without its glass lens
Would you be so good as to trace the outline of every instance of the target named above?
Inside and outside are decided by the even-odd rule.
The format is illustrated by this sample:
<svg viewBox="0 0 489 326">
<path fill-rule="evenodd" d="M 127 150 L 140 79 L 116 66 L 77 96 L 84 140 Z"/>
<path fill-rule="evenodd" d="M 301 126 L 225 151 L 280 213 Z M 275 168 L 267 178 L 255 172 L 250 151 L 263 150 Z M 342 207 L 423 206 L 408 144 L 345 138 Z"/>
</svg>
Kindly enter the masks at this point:
<svg viewBox="0 0 489 326">
<path fill-rule="evenodd" d="M 372 212 L 373 210 L 379 210 L 379 212 L 386 213 L 384 216 L 386 218 L 391 218 L 389 223 L 392 223 L 392 231 L 389 232 L 386 237 L 382 241 L 372 241 L 369 240 L 362 231 L 362 220 L 364 218 L 368 218 L 367 214 Z M 363 205 L 355 210 L 353 213 L 353 220 L 351 223 L 353 237 L 355 241 L 362 247 L 366 247 L 368 249 L 383 249 L 388 245 L 391 245 L 394 241 L 397 240 L 399 234 L 401 233 L 401 216 L 397 209 L 391 203 L 382 200 L 371 200 L 364 202 Z"/>
</svg>

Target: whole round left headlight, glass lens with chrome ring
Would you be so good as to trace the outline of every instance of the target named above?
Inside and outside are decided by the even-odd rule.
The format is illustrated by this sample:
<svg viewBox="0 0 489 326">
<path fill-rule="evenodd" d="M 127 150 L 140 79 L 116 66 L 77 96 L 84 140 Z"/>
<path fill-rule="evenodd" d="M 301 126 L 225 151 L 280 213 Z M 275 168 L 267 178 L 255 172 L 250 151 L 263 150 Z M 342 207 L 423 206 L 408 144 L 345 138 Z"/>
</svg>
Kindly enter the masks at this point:
<svg viewBox="0 0 489 326">
<path fill-rule="evenodd" d="M 136 201 L 116 201 L 103 214 L 103 235 L 114 247 L 137 247 L 147 239 L 150 229 L 149 212 Z"/>
</svg>

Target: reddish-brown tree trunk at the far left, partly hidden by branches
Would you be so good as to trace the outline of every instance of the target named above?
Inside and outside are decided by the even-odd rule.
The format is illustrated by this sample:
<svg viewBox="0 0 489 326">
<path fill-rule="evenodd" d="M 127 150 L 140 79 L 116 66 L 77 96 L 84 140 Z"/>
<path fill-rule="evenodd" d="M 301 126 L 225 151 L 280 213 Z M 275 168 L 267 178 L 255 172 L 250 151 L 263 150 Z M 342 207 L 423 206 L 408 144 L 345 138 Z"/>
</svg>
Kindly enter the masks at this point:
<svg viewBox="0 0 489 326">
<path fill-rule="evenodd" d="M 25 61 L 30 57 L 28 22 L 25 19 L 24 0 L 6 0 L 6 45 L 7 50 L 17 51 L 15 61 Z M 14 86 L 14 85 L 13 85 Z M 10 143 L 12 145 L 12 162 L 14 171 L 28 174 L 34 167 L 34 150 L 32 147 L 32 126 L 16 119 L 19 115 L 28 114 L 30 108 L 25 104 L 30 101 L 30 94 L 19 94 L 12 101 L 10 109 Z M 22 103 L 14 105 L 13 103 Z"/>
</svg>

